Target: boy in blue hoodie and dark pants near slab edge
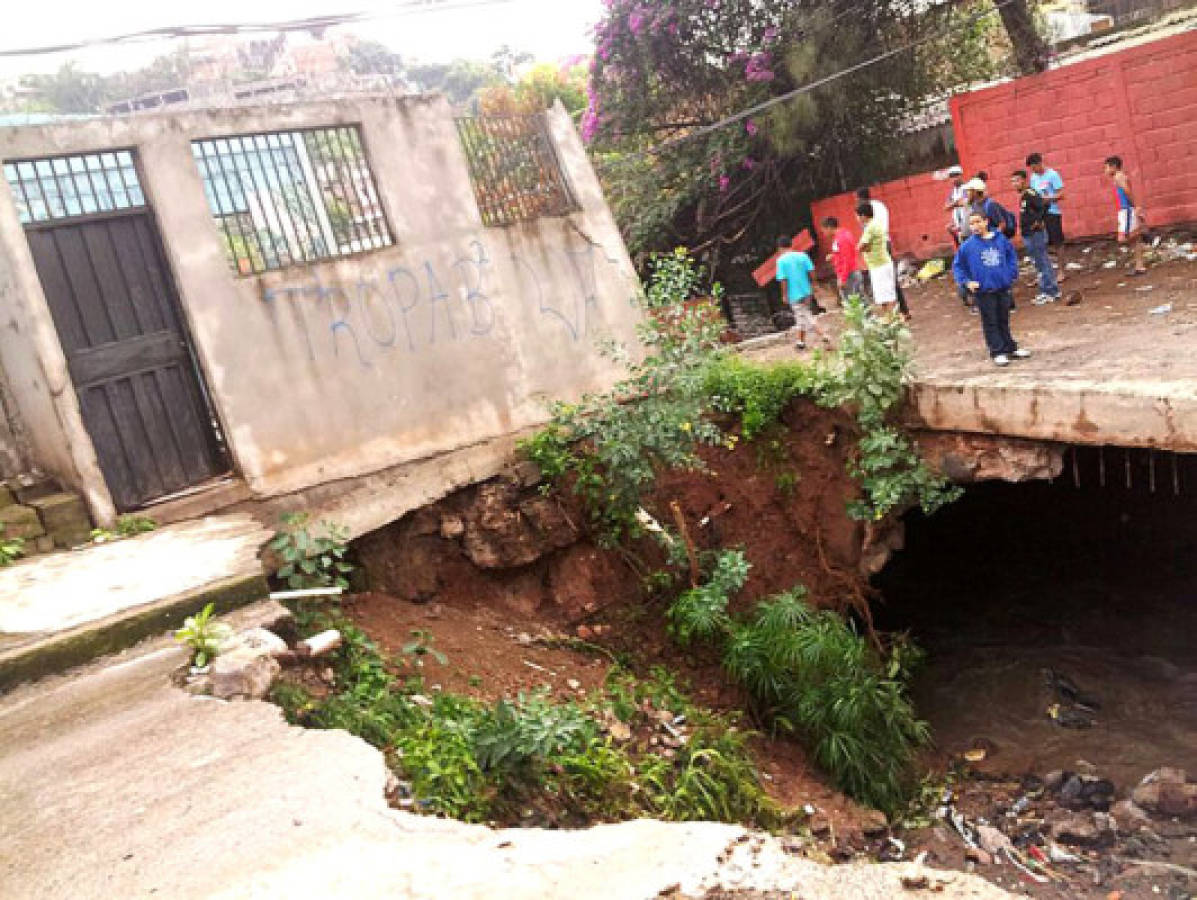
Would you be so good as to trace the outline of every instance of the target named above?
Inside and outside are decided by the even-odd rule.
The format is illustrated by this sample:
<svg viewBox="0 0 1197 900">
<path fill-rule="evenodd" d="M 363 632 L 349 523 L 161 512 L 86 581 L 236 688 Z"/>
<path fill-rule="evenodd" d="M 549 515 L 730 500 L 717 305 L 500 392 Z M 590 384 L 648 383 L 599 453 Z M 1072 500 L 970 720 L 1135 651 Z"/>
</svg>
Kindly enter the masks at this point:
<svg viewBox="0 0 1197 900">
<path fill-rule="evenodd" d="M 1010 335 L 1010 287 L 1019 276 L 1019 255 L 1014 245 L 995 231 L 986 215 L 973 211 L 968 215 L 972 237 L 960 245 L 952 263 L 956 284 L 977 298 L 985 346 L 994 364 L 1008 366 L 1010 358 L 1027 359 L 1031 351 L 1020 349 Z"/>
</svg>

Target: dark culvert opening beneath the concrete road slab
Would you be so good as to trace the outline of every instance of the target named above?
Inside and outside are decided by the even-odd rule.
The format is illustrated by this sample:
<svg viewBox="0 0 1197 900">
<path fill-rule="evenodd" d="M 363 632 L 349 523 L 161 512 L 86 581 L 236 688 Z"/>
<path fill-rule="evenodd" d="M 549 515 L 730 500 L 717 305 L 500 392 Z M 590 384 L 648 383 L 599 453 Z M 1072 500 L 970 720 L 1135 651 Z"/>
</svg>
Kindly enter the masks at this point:
<svg viewBox="0 0 1197 900">
<path fill-rule="evenodd" d="M 1197 771 L 1197 457 L 1075 450 L 1055 481 L 968 487 L 907 516 L 876 584 L 879 626 L 928 651 L 915 693 L 943 752 L 1086 760 L 1119 789 Z"/>
</svg>

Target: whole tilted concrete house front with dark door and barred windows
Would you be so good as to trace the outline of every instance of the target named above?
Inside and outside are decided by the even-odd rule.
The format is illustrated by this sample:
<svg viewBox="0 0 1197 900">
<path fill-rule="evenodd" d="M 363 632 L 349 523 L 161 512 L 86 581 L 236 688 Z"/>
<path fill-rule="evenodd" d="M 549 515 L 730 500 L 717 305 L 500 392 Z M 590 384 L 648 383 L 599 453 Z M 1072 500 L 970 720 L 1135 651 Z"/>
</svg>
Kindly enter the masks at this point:
<svg viewBox="0 0 1197 900">
<path fill-rule="evenodd" d="M 0 129 L 0 474 L 97 523 L 512 434 L 608 385 L 639 318 L 560 108 L 78 120 Z"/>
</svg>

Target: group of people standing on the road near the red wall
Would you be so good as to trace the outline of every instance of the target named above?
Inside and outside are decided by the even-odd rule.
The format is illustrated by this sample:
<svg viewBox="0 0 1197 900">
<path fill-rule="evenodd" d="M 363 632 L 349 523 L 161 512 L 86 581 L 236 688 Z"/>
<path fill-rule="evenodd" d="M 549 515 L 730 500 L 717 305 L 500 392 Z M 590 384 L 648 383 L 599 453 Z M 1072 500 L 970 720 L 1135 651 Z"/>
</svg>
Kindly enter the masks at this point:
<svg viewBox="0 0 1197 900">
<path fill-rule="evenodd" d="M 1044 163 L 1040 153 L 1029 154 L 1026 166 L 1010 175 L 1019 197 L 1016 215 L 990 196 L 985 172 L 965 181 L 959 165 L 948 170 L 952 193 L 944 209 L 950 213 L 948 231 L 956 248 L 953 278 L 965 306 L 980 317 L 986 349 L 998 366 L 1031 357 L 1031 352 L 1019 347 L 1010 334 L 1010 311 L 1014 309 L 1011 288 L 1019 276 L 1019 255 L 1011 241 L 1017 235 L 1021 233 L 1023 249 L 1038 273 L 1039 293 L 1032 303 L 1055 303 L 1061 296 L 1062 279 L 1056 274 L 1051 248 L 1064 243 L 1061 211 L 1065 197 L 1064 181 L 1059 172 Z M 1142 275 L 1147 270 L 1142 211 L 1135 202 L 1122 159 L 1108 157 L 1105 172 L 1114 188 L 1118 242 L 1134 253 L 1131 274 Z M 864 293 L 864 274 L 859 266 L 863 261 L 877 311 L 892 314 L 897 308 L 909 320 L 910 310 L 893 261 L 889 211 L 880 200 L 873 200 L 867 188 L 857 191 L 857 201 L 856 217 L 862 229 L 859 238 L 855 238 L 836 217 L 827 217 L 820 223 L 820 232 L 830 247 L 826 259 L 836 270 L 840 298 Z M 810 278 L 814 263 L 807 254 L 790 249 L 790 238 L 779 238 L 778 247 L 782 256 L 777 263 L 777 280 L 783 284 L 784 296 L 794 311 L 798 349 L 806 348 L 808 330 L 830 342 L 815 315 L 818 306 Z"/>
</svg>

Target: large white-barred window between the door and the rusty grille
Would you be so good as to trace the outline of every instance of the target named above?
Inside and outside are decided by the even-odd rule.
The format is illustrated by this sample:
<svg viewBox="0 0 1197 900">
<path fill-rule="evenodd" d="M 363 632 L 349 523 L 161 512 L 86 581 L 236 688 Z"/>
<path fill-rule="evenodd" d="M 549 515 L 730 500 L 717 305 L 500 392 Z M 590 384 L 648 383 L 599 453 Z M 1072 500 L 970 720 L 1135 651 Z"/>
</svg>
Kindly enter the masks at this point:
<svg viewBox="0 0 1197 900">
<path fill-rule="evenodd" d="M 242 275 L 394 243 L 356 126 L 207 138 L 192 154 Z"/>
</svg>

